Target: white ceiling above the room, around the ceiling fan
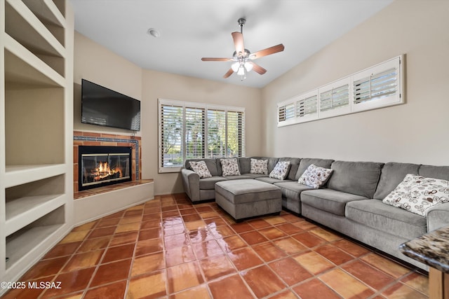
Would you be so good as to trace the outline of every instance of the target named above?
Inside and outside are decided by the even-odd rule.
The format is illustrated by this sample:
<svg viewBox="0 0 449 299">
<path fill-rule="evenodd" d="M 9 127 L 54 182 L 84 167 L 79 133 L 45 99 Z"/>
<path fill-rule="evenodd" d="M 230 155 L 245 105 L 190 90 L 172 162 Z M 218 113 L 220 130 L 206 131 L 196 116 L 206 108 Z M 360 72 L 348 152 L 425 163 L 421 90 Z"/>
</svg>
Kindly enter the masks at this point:
<svg viewBox="0 0 449 299">
<path fill-rule="evenodd" d="M 261 88 L 393 0 L 71 0 L 75 30 L 144 69 Z M 222 76 L 232 62 L 232 32 L 243 27 L 251 52 L 286 47 L 255 60 L 267 73 Z M 159 38 L 147 34 L 149 28 Z"/>
</svg>

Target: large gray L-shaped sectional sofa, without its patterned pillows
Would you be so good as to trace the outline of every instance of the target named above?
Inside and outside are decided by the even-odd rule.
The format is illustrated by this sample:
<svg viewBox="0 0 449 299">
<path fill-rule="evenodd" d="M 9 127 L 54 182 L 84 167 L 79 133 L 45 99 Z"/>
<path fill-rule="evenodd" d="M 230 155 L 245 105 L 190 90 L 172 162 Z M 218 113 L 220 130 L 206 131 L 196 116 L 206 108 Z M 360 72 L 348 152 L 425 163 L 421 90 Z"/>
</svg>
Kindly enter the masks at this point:
<svg viewBox="0 0 449 299">
<path fill-rule="evenodd" d="M 406 174 L 419 174 L 435 179 L 449 180 L 448 166 L 417 165 L 398 162 L 350 162 L 319 158 L 270 158 L 268 173 L 278 161 L 290 161 L 290 171 L 285 180 L 269 178 L 268 174 L 250 174 L 250 158 L 237 158 L 240 176 L 222 176 L 220 159 L 204 160 L 211 178 L 199 179 L 189 167 L 182 172 L 185 192 L 192 202 L 213 200 L 215 183 L 232 179 L 256 179 L 272 183 L 282 191 L 285 209 L 326 225 L 344 235 L 380 249 L 427 270 L 427 265 L 404 256 L 398 246 L 431 230 L 449 225 L 449 202 L 433 207 L 427 217 L 384 204 L 382 200 Z M 196 161 L 198 161 L 196 160 Z M 297 183 L 302 173 L 314 164 L 333 169 L 325 186 L 312 189 Z"/>
</svg>

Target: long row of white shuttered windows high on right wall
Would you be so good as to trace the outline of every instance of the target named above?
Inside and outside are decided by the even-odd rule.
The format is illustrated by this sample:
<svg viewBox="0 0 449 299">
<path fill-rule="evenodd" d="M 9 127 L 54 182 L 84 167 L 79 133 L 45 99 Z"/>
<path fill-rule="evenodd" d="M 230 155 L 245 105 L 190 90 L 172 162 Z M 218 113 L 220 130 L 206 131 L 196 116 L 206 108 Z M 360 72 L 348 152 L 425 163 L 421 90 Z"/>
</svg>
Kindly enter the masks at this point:
<svg viewBox="0 0 449 299">
<path fill-rule="evenodd" d="M 404 104 L 401 62 L 402 55 L 278 103 L 278 127 Z"/>
</svg>

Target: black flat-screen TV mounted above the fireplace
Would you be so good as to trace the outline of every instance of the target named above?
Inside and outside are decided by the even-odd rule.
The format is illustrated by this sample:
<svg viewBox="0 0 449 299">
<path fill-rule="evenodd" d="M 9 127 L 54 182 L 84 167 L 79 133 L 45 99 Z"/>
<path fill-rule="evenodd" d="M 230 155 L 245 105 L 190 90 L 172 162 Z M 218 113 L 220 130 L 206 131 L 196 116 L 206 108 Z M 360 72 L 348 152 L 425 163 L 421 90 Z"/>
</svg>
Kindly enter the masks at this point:
<svg viewBox="0 0 449 299">
<path fill-rule="evenodd" d="M 140 101 L 82 79 L 81 123 L 140 131 Z"/>
</svg>

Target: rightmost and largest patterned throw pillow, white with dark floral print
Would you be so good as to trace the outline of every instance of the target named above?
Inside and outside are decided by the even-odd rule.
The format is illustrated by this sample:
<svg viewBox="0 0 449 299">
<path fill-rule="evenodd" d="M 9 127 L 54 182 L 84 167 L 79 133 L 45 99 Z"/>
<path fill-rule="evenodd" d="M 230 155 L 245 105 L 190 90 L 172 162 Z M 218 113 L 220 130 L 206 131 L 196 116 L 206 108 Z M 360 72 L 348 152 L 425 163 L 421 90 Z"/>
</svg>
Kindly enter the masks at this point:
<svg viewBox="0 0 449 299">
<path fill-rule="evenodd" d="M 429 208 L 449 201 L 449 181 L 407 174 L 382 200 L 385 204 L 427 217 Z"/>
</svg>

